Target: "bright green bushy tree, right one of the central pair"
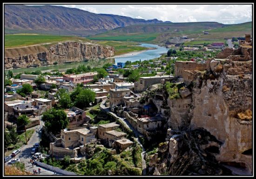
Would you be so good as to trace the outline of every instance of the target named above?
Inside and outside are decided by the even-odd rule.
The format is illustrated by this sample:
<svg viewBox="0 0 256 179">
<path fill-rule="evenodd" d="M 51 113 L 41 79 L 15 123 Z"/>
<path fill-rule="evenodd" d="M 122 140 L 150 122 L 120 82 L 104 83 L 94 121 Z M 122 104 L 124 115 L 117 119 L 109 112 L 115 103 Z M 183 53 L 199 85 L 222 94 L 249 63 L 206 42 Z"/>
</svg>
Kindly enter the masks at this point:
<svg viewBox="0 0 256 179">
<path fill-rule="evenodd" d="M 90 106 L 91 102 L 94 102 L 96 93 L 90 89 L 83 89 L 75 98 L 75 106 L 78 108 L 86 108 Z"/>
</svg>

